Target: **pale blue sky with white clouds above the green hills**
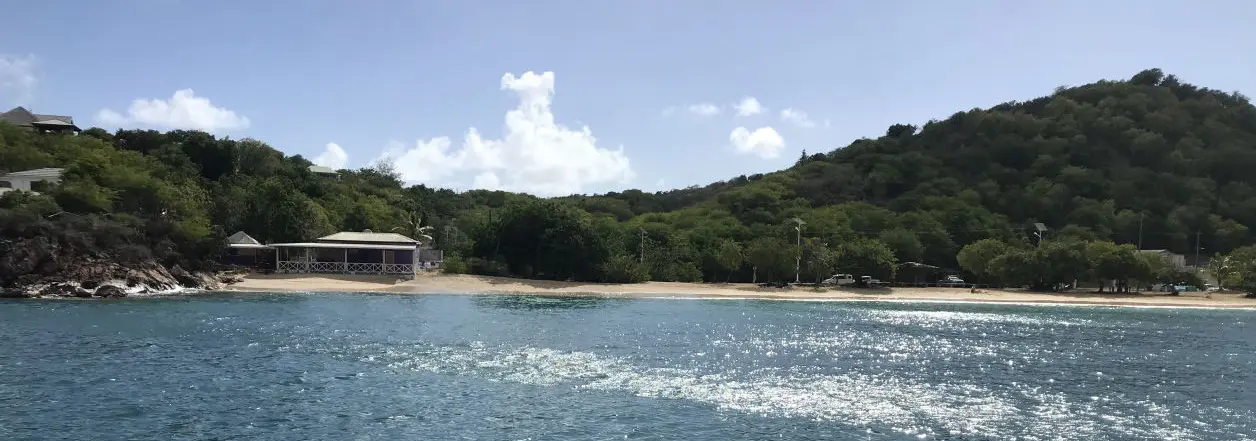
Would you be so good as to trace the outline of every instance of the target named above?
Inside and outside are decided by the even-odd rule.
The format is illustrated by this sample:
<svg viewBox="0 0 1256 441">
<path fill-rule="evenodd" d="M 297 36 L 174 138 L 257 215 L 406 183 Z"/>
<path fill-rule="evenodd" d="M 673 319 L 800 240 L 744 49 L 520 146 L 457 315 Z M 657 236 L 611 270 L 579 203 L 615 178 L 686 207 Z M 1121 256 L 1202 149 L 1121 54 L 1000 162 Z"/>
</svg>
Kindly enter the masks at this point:
<svg viewBox="0 0 1256 441">
<path fill-rule="evenodd" d="M 1256 95 L 1256 3 L 0 0 L 0 107 L 411 183 L 664 191 L 1161 68 Z"/>
</svg>

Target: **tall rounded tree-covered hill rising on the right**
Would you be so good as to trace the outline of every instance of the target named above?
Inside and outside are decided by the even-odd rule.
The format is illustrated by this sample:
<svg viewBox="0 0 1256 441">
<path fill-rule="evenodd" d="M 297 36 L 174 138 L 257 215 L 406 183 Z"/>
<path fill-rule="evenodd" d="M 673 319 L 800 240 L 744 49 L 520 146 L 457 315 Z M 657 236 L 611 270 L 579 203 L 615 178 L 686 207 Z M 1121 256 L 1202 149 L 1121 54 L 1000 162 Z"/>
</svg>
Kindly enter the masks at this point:
<svg viewBox="0 0 1256 441">
<path fill-rule="evenodd" d="M 745 225 L 867 202 L 893 214 L 850 206 L 870 214 L 838 230 L 934 235 L 927 260 L 941 263 L 953 260 L 953 248 L 943 246 L 939 226 L 951 245 L 962 245 L 1021 235 L 1034 222 L 1048 225 L 1049 235 L 1135 244 L 1142 220 L 1144 249 L 1189 254 L 1198 234 L 1211 254 L 1251 241 L 1253 171 L 1256 108 L 1246 97 L 1149 69 L 1124 82 L 1061 87 L 1048 97 L 958 112 L 922 128 L 894 124 L 877 139 L 805 156 L 775 173 L 571 200 L 619 219 L 727 211 Z"/>
</svg>

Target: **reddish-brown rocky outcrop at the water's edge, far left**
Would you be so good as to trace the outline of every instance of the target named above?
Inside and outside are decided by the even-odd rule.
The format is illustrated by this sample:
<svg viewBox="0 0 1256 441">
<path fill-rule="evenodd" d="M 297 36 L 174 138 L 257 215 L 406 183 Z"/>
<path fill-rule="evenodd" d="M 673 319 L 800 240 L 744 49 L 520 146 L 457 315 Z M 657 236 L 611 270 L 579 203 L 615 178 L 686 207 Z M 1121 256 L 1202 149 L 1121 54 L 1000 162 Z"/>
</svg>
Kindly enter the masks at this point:
<svg viewBox="0 0 1256 441">
<path fill-rule="evenodd" d="M 106 260 L 60 265 L 50 275 L 28 274 L 0 286 L 0 298 L 123 298 L 133 294 L 214 290 L 239 280 L 236 274 L 188 271 L 157 263 L 121 265 Z"/>
</svg>

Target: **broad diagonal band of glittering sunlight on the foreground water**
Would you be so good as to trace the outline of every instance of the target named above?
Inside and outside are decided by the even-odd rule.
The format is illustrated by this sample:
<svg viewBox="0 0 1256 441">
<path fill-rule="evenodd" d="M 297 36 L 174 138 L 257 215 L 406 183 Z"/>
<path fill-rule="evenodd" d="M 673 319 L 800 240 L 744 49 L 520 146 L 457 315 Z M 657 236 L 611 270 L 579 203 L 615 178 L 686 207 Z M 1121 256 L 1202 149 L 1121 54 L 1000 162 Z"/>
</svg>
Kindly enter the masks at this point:
<svg viewBox="0 0 1256 441">
<path fill-rule="evenodd" d="M 762 416 L 831 421 L 889 430 L 922 440 L 990 437 L 1016 440 L 1129 437 L 1211 440 L 1201 415 L 1188 410 L 1095 396 L 1070 400 L 1041 387 L 992 391 L 976 384 L 927 383 L 891 374 L 799 374 L 781 369 L 708 372 L 634 366 L 628 359 L 590 352 L 536 347 L 466 347 L 417 344 L 354 348 L 362 362 L 393 369 L 442 374 L 474 374 L 489 381 L 531 386 L 569 386 L 587 391 L 624 392 L 638 397 L 688 400 L 721 410 Z M 1120 408 L 1107 403 L 1119 401 Z M 1184 412 L 1187 411 L 1187 412 Z M 1202 410 L 1197 410 L 1201 412 Z M 1256 417 L 1252 412 L 1246 412 Z M 1226 433 L 1231 440 L 1251 440 Z"/>
</svg>

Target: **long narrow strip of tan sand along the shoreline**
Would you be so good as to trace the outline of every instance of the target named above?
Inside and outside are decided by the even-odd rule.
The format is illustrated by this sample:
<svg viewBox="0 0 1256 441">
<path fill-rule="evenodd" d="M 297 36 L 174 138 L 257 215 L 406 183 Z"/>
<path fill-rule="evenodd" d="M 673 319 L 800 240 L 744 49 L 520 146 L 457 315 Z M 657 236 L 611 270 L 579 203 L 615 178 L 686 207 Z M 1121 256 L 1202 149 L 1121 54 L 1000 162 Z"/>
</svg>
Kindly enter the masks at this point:
<svg viewBox="0 0 1256 441">
<path fill-rule="evenodd" d="M 693 284 L 651 281 L 643 284 L 590 284 L 550 280 L 489 278 L 477 275 L 425 274 L 414 280 L 377 275 L 308 275 L 251 274 L 227 286 L 234 291 L 352 291 L 397 294 L 528 294 L 528 295 L 597 295 L 612 298 L 688 298 L 688 299 L 780 299 L 780 300 L 879 300 L 879 302 L 971 302 L 1078 304 L 1113 307 L 1169 308 L 1247 308 L 1256 309 L 1256 299 L 1240 294 L 1183 293 L 1166 295 L 1075 293 L 1025 293 L 1015 290 L 980 290 L 967 288 L 883 288 L 883 289 L 821 289 L 759 288 L 754 284 Z"/>
</svg>

